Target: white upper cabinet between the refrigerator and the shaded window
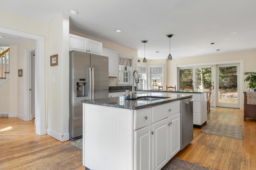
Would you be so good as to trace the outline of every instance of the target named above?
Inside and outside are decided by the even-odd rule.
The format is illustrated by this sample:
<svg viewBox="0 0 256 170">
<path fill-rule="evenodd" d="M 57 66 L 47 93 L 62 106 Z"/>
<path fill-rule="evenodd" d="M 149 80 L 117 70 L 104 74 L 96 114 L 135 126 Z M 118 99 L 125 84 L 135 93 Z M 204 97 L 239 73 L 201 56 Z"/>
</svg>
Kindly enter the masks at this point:
<svg viewBox="0 0 256 170">
<path fill-rule="evenodd" d="M 108 57 L 108 76 L 118 76 L 118 52 L 110 49 L 102 49 L 102 55 Z"/>
</svg>

